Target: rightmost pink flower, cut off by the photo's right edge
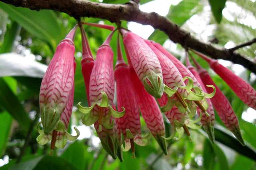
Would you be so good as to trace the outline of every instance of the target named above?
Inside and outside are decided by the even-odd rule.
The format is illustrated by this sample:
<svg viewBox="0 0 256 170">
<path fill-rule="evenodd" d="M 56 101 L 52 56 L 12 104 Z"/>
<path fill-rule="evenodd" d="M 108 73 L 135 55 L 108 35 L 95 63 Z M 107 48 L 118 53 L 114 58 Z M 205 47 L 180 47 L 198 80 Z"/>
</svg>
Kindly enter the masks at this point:
<svg viewBox="0 0 256 170">
<path fill-rule="evenodd" d="M 245 82 L 228 68 L 222 66 L 217 60 L 210 59 L 196 51 L 193 52 L 207 61 L 212 70 L 214 70 L 214 72 L 216 72 L 228 84 L 228 86 L 230 86 L 230 88 L 245 104 L 256 109 L 256 91 L 252 86 L 250 86 L 250 84 Z"/>
</svg>

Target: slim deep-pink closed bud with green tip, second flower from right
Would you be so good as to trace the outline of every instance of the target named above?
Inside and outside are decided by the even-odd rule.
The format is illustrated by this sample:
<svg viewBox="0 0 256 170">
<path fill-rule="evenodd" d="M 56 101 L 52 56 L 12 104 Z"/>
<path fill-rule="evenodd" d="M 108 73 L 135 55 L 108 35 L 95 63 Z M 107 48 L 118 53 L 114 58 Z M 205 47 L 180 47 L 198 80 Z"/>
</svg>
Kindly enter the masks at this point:
<svg viewBox="0 0 256 170">
<path fill-rule="evenodd" d="M 238 123 L 238 119 L 236 117 L 236 114 L 234 113 L 228 99 L 224 94 L 220 91 L 218 86 L 214 83 L 210 75 L 204 68 L 202 68 L 195 60 L 194 60 L 196 67 L 198 69 L 198 73 L 200 75 L 200 78 L 202 79 L 202 82 L 205 85 L 205 88 L 208 92 L 211 91 L 210 88 L 208 88 L 207 84 L 212 84 L 216 88 L 216 93 L 213 98 L 211 98 L 211 102 L 216 109 L 218 115 L 220 116 L 220 119 L 222 122 L 226 125 L 226 127 L 232 131 L 232 133 L 236 136 L 238 141 L 244 145 L 244 140 L 242 138 L 240 127 Z"/>
</svg>

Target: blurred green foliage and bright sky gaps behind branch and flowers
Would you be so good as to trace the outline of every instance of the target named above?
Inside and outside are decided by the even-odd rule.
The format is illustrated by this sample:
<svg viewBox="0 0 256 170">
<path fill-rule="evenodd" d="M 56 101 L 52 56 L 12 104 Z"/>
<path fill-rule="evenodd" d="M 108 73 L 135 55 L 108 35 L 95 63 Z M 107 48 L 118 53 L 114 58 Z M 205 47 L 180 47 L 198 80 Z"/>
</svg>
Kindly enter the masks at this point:
<svg viewBox="0 0 256 170">
<path fill-rule="evenodd" d="M 141 0 L 140 4 L 151 3 L 150 1 L 152 0 Z M 128 0 L 100 2 L 123 4 Z M 164 3 L 161 0 L 157 2 Z M 178 0 L 170 6 L 166 17 L 202 41 L 230 48 L 256 37 L 255 14 L 255 0 Z M 83 20 L 115 25 L 95 18 Z M 245 147 L 236 141 L 216 114 L 215 144 L 210 143 L 203 130 L 191 130 L 192 141 L 185 135 L 179 141 L 168 141 L 169 154 L 166 156 L 156 141 L 150 139 L 148 146 L 136 146 L 135 159 L 130 152 L 124 152 L 124 162 L 121 163 L 119 160 L 112 160 L 102 149 L 93 127 L 81 124 L 81 115 L 74 107 L 70 129 L 77 126 L 81 132 L 80 137 L 77 141 L 68 143 L 64 149 L 55 149 L 54 156 L 48 156 L 49 145 L 40 146 L 36 143 L 36 124 L 40 120 L 40 82 L 56 46 L 76 24 L 76 20 L 64 13 L 50 10 L 37 12 L 0 2 L 0 21 L 0 170 L 256 169 L 256 112 L 244 105 L 221 78 L 209 69 L 208 64 L 196 56 L 230 100 L 240 121 Z M 122 21 L 122 25 L 132 29 L 131 23 Z M 97 48 L 110 31 L 87 25 L 84 28 L 95 56 Z M 111 41 L 115 53 L 114 62 L 116 37 L 115 34 Z M 184 61 L 184 49 L 172 43 L 163 32 L 154 30 L 149 39 L 164 45 Z M 80 31 L 77 31 L 74 43 L 78 63 L 74 105 L 81 101 L 86 105 L 84 80 L 79 64 L 82 56 Z M 254 58 L 256 44 L 239 49 L 238 52 Z M 256 87 L 255 74 L 237 64 L 220 62 Z M 165 125 L 168 136 L 171 125 L 166 119 Z M 144 122 L 142 129 L 146 131 Z"/>
</svg>

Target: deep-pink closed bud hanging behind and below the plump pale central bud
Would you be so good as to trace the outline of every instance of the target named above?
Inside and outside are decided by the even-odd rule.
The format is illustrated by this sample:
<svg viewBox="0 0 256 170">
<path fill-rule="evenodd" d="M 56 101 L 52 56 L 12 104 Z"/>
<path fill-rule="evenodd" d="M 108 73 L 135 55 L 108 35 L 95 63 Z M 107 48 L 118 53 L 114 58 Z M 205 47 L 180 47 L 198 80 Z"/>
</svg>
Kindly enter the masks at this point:
<svg viewBox="0 0 256 170">
<path fill-rule="evenodd" d="M 136 72 L 132 66 L 130 69 L 130 76 L 135 92 L 137 103 L 140 107 L 140 112 L 144 118 L 148 129 L 160 145 L 161 149 L 167 154 L 166 141 L 165 141 L 165 128 L 162 113 L 153 96 L 148 94 L 140 82 Z"/>
</svg>

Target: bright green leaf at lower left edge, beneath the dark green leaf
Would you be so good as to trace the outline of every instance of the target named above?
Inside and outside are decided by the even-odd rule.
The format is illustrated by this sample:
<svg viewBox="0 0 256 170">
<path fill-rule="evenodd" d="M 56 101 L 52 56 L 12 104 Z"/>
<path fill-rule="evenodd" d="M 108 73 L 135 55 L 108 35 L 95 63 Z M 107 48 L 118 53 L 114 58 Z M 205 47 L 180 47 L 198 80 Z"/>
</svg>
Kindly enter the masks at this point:
<svg viewBox="0 0 256 170">
<path fill-rule="evenodd" d="M 12 125 L 12 117 L 8 112 L 0 113 L 0 157 L 4 154 L 6 143 L 9 139 L 10 129 Z"/>
</svg>

